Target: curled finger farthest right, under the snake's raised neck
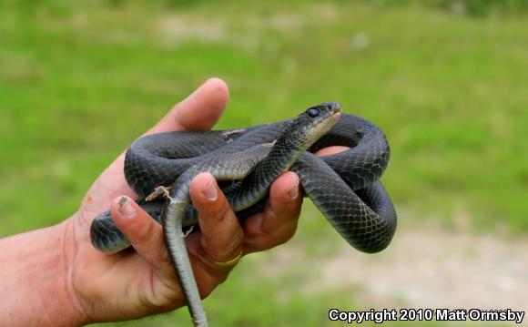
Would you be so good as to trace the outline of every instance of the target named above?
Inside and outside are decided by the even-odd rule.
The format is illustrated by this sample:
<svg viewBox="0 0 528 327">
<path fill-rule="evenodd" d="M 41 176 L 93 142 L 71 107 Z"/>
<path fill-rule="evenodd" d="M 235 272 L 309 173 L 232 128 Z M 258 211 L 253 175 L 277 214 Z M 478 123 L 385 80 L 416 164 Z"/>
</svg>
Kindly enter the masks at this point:
<svg viewBox="0 0 528 327">
<path fill-rule="evenodd" d="M 244 224 L 244 249 L 267 250 L 291 239 L 300 215 L 302 195 L 294 172 L 279 176 L 269 189 L 264 212 L 249 217 Z"/>
</svg>

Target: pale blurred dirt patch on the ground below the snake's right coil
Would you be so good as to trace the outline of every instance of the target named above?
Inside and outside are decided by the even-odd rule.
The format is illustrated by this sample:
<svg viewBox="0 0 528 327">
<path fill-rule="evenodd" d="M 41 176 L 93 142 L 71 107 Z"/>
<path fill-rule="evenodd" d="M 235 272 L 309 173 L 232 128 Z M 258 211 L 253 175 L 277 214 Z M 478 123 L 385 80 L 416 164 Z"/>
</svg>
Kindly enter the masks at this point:
<svg viewBox="0 0 528 327">
<path fill-rule="evenodd" d="M 389 249 L 365 255 L 346 248 L 320 261 L 322 287 L 356 285 L 364 307 L 528 308 L 528 240 L 400 229 Z"/>
</svg>

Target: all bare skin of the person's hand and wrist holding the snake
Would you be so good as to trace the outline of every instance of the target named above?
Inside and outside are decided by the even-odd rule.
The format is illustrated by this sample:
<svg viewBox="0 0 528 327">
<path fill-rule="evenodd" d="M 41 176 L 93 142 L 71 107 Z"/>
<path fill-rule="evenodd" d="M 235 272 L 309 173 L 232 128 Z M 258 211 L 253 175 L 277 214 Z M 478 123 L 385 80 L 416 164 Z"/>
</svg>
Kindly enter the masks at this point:
<svg viewBox="0 0 528 327">
<path fill-rule="evenodd" d="M 173 107 L 147 134 L 211 128 L 228 102 L 228 87 L 211 78 Z M 135 319 L 185 304 L 169 260 L 162 228 L 132 199 L 122 153 L 96 179 L 70 218 L 42 230 L 0 240 L 0 325 L 76 326 Z M 263 212 L 239 224 L 208 173 L 192 182 L 198 232 L 186 239 L 202 297 L 225 281 L 239 253 L 268 250 L 297 228 L 302 196 L 299 178 L 279 176 Z M 125 197 L 126 200 L 123 200 Z M 89 239 L 91 221 L 110 208 L 134 250 L 102 253 Z"/>
</svg>

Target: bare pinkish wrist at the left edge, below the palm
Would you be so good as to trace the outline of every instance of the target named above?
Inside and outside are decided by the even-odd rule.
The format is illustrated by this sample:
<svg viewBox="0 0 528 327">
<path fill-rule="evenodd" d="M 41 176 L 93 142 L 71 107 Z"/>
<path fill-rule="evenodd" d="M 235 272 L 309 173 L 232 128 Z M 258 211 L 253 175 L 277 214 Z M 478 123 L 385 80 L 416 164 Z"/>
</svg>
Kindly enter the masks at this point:
<svg viewBox="0 0 528 327">
<path fill-rule="evenodd" d="M 71 282 L 71 220 L 0 240 L 0 325 L 75 326 L 85 320 Z M 69 248 L 68 248 L 69 247 Z"/>
</svg>

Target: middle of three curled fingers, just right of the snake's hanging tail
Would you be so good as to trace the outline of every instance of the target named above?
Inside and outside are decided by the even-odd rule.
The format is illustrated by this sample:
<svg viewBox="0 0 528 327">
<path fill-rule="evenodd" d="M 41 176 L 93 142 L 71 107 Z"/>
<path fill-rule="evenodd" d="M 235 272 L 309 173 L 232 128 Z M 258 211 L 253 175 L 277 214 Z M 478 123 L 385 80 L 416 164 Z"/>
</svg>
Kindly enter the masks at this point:
<svg viewBox="0 0 528 327">
<path fill-rule="evenodd" d="M 209 173 L 199 174 L 192 181 L 190 196 L 198 209 L 203 259 L 214 263 L 237 258 L 242 251 L 242 229 L 214 177 Z"/>
</svg>

